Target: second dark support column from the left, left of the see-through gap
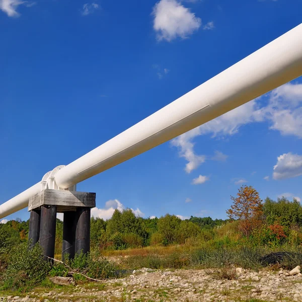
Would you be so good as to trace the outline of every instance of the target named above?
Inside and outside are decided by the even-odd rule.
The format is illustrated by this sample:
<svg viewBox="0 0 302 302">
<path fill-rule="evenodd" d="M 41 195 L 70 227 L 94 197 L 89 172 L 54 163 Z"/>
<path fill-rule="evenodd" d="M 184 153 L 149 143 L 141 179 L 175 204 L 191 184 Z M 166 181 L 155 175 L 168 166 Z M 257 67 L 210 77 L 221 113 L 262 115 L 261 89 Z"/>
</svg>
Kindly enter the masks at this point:
<svg viewBox="0 0 302 302">
<path fill-rule="evenodd" d="M 54 257 L 56 206 L 41 206 L 40 245 L 47 257 Z"/>
</svg>

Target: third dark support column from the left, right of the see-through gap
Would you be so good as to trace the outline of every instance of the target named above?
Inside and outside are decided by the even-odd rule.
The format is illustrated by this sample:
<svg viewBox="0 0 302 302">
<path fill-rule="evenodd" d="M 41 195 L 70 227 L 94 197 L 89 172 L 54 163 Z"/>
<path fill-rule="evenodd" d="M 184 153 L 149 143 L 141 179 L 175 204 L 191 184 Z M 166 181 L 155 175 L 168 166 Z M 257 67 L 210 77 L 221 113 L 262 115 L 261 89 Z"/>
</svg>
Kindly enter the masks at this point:
<svg viewBox="0 0 302 302">
<path fill-rule="evenodd" d="M 74 257 L 76 214 L 75 211 L 64 212 L 62 261 L 65 260 L 67 255 L 69 259 Z"/>
</svg>

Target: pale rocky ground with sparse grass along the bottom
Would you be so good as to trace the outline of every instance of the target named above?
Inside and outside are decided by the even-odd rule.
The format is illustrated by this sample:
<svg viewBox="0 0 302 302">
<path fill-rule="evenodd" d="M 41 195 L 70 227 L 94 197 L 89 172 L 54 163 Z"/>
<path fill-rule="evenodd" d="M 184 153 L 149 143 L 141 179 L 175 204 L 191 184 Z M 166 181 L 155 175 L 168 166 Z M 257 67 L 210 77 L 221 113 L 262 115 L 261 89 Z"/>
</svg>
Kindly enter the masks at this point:
<svg viewBox="0 0 302 302">
<path fill-rule="evenodd" d="M 231 278 L 229 279 L 225 279 Z M 1 295 L 1 293 L 0 293 Z M 0 301 L 302 301 L 302 275 L 279 271 L 150 270 L 98 283 L 36 288 Z"/>
</svg>

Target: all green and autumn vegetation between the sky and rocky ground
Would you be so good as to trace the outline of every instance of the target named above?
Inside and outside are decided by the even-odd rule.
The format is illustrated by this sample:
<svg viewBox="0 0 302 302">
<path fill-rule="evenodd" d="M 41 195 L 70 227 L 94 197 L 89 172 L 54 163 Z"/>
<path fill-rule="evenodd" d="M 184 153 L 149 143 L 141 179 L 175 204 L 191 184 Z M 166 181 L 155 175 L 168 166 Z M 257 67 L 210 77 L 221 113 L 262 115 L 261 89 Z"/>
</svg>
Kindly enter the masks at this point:
<svg viewBox="0 0 302 302">
<path fill-rule="evenodd" d="M 47 282 L 48 276 L 70 275 L 70 270 L 78 281 L 85 279 L 83 273 L 102 279 L 142 267 L 220 268 L 228 279 L 234 266 L 267 265 L 263 256 L 273 251 L 286 252 L 277 266 L 292 268 L 302 263 L 302 206 L 297 200 L 267 197 L 262 202 L 251 186 L 242 186 L 231 199 L 226 220 L 193 216 L 181 220 L 171 214 L 141 218 L 130 209 L 115 210 L 107 221 L 92 217 L 92 253 L 67 261 L 68 267 L 43 260 L 39 245 L 28 249 L 29 221 L 0 224 L 0 290 L 26 290 Z M 57 219 L 57 257 L 61 242 L 62 221 Z M 127 257 L 114 265 L 104 256 Z"/>
</svg>

